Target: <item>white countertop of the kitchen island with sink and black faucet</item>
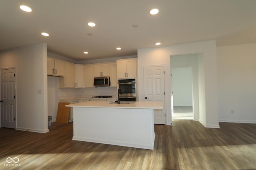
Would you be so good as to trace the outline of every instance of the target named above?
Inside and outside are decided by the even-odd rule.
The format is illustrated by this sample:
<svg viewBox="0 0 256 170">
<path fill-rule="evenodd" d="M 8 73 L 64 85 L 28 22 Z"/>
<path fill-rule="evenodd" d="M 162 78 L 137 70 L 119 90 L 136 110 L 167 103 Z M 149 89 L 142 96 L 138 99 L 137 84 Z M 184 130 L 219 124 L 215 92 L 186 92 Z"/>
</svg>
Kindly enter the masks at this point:
<svg viewBox="0 0 256 170">
<path fill-rule="evenodd" d="M 69 104 L 67 107 L 102 107 L 102 108 L 127 108 L 127 109 L 162 109 L 162 102 L 112 102 L 90 101 L 77 104 Z"/>
</svg>

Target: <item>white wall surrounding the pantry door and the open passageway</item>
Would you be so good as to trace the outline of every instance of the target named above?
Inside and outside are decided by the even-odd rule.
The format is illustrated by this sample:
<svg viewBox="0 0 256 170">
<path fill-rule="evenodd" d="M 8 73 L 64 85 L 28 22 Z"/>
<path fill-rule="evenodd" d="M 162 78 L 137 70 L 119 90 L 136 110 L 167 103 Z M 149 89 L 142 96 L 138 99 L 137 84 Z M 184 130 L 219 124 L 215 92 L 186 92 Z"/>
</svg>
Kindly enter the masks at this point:
<svg viewBox="0 0 256 170">
<path fill-rule="evenodd" d="M 138 81 L 143 80 L 142 66 L 166 64 L 166 111 L 167 124 L 172 124 L 171 117 L 171 78 L 170 78 L 170 55 L 203 54 L 204 60 L 204 84 L 205 84 L 205 108 L 206 119 L 199 118 L 206 127 L 218 128 L 218 101 L 217 101 L 217 66 L 216 66 L 216 43 L 215 41 L 203 41 L 181 45 L 138 49 Z M 138 85 L 139 98 L 143 98 L 142 83 Z"/>
</svg>

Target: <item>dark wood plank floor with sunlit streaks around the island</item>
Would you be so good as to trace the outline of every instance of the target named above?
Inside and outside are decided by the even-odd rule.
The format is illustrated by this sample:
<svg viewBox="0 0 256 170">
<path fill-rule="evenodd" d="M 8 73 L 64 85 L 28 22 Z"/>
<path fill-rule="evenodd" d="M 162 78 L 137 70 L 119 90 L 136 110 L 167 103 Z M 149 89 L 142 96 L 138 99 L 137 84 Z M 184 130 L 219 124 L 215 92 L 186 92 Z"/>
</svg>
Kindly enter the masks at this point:
<svg viewBox="0 0 256 170">
<path fill-rule="evenodd" d="M 72 141 L 72 128 L 72 123 L 52 123 L 45 134 L 0 128 L 0 169 L 256 169 L 256 124 L 220 123 L 220 129 L 210 129 L 198 121 L 175 120 L 173 126 L 155 125 L 154 150 Z M 8 157 L 19 158 L 18 166 L 5 166 Z"/>
</svg>

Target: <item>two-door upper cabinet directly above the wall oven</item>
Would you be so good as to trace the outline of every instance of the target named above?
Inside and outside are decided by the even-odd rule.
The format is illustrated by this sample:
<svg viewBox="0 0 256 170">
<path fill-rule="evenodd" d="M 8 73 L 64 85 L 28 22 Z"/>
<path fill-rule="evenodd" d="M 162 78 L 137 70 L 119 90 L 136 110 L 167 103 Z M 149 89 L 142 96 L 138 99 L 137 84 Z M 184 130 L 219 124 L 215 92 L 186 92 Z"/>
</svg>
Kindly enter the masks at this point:
<svg viewBox="0 0 256 170">
<path fill-rule="evenodd" d="M 116 60 L 117 78 L 136 78 L 137 59 Z"/>
</svg>

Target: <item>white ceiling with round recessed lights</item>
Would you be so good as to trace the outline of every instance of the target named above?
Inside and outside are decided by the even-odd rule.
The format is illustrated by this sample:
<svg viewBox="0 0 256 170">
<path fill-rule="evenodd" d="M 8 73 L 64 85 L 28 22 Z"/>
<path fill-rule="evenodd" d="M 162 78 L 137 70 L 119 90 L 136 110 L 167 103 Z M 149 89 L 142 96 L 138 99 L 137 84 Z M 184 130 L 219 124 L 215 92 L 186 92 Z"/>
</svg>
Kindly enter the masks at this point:
<svg viewBox="0 0 256 170">
<path fill-rule="evenodd" d="M 152 8 L 159 13 L 150 15 Z M 0 51 L 47 43 L 51 53 L 84 61 L 212 39 L 256 43 L 256 0 L 0 0 Z"/>
</svg>

